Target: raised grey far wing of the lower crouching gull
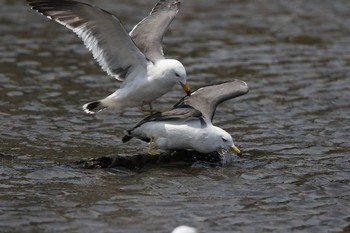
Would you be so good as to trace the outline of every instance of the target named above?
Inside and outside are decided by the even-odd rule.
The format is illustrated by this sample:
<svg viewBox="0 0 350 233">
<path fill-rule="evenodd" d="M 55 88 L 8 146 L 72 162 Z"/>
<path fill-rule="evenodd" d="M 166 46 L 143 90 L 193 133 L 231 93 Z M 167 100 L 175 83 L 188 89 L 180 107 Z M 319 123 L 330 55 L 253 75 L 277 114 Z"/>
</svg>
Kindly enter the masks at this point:
<svg viewBox="0 0 350 233">
<path fill-rule="evenodd" d="M 182 106 L 191 106 L 200 111 L 207 121 L 212 121 L 216 107 L 229 99 L 248 93 L 248 85 L 241 80 L 234 80 L 221 84 L 202 87 L 191 94 L 183 97 L 174 105 L 174 109 Z"/>
</svg>

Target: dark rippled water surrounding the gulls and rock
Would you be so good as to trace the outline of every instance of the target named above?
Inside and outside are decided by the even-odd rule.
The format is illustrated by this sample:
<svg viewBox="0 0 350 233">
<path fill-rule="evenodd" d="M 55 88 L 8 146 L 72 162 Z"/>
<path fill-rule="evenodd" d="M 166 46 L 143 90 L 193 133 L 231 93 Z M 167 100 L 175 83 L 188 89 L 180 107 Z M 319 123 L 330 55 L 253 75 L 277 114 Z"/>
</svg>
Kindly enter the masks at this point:
<svg viewBox="0 0 350 233">
<path fill-rule="evenodd" d="M 128 29 L 155 3 L 89 2 Z M 143 115 L 86 115 L 84 103 L 119 84 L 70 31 L 23 1 L 0 4 L 1 232 L 350 231 L 349 1 L 186 1 L 166 55 L 183 62 L 193 89 L 248 83 L 215 116 L 245 157 L 140 171 L 70 166 L 144 152 L 120 140 Z"/>
</svg>

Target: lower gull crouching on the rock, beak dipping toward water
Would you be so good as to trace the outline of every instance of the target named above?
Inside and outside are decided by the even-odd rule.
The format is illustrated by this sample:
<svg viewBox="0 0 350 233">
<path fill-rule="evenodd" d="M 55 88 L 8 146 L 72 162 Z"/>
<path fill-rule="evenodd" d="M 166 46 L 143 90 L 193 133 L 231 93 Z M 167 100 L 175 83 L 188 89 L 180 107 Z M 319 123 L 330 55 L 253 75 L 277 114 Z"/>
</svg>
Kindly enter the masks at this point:
<svg viewBox="0 0 350 233">
<path fill-rule="evenodd" d="M 240 80 L 202 87 L 191 96 L 183 97 L 172 110 L 152 114 L 140 121 L 126 131 L 122 141 L 136 137 L 149 142 L 149 154 L 159 154 L 152 149 L 154 146 L 163 150 L 200 153 L 231 149 L 240 156 L 231 135 L 214 126 L 212 120 L 220 103 L 244 95 L 248 90 L 248 85 Z"/>
</svg>

